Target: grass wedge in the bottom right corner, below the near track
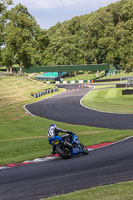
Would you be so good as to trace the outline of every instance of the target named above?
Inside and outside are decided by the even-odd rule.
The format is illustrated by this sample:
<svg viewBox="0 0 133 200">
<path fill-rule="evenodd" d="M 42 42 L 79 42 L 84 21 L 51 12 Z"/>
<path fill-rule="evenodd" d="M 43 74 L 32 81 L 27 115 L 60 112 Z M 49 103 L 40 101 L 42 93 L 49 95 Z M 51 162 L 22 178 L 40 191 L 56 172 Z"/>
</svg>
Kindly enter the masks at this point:
<svg viewBox="0 0 133 200">
<path fill-rule="evenodd" d="M 133 181 L 99 186 L 66 195 L 45 198 L 45 200 L 132 200 Z"/>
</svg>

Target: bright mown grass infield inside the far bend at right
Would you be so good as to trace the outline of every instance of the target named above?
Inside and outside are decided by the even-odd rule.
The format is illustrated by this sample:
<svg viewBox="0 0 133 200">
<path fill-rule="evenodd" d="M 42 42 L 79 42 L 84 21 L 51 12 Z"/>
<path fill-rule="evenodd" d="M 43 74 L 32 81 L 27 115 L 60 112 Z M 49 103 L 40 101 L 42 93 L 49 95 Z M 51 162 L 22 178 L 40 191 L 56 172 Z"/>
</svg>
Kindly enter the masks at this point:
<svg viewBox="0 0 133 200">
<path fill-rule="evenodd" d="M 122 95 L 122 89 L 92 90 L 83 99 L 88 108 L 114 113 L 133 113 L 133 95 Z"/>
</svg>

